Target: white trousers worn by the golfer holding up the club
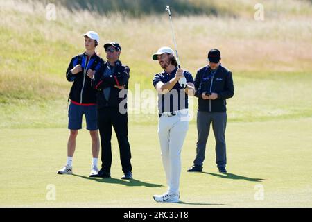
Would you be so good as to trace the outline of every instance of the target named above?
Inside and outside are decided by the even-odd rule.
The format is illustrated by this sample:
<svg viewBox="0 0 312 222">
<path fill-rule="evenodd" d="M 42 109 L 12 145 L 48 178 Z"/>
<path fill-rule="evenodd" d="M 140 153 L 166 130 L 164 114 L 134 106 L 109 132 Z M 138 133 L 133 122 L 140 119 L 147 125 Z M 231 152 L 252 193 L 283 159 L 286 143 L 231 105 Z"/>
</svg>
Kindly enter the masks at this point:
<svg viewBox="0 0 312 222">
<path fill-rule="evenodd" d="M 179 194 L 181 174 L 181 151 L 189 130 L 189 114 L 186 110 L 173 117 L 159 118 L 158 136 L 162 149 L 162 164 L 166 172 L 168 191 Z"/>
</svg>

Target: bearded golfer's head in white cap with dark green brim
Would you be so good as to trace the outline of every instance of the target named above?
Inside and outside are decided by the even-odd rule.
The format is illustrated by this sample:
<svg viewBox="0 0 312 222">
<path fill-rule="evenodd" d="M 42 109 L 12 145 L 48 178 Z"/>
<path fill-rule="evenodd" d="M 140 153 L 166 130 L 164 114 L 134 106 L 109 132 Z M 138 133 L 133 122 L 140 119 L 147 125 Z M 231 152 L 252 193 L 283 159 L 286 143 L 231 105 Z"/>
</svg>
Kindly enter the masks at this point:
<svg viewBox="0 0 312 222">
<path fill-rule="evenodd" d="M 160 67 L 166 69 L 169 65 L 177 67 L 177 60 L 174 56 L 174 51 L 169 47 L 162 47 L 158 49 L 152 56 L 153 60 L 158 60 Z"/>
</svg>

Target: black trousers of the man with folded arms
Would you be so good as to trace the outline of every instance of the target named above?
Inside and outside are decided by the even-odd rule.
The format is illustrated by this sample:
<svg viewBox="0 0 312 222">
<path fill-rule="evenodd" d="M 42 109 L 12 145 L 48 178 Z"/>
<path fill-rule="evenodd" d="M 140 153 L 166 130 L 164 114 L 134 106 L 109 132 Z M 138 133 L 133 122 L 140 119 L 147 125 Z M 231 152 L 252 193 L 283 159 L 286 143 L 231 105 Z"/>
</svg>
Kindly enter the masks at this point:
<svg viewBox="0 0 312 222">
<path fill-rule="evenodd" d="M 102 108 L 98 110 L 98 130 L 101 137 L 101 170 L 110 173 L 112 165 L 112 126 L 119 144 L 123 173 L 132 171 L 130 162 L 131 151 L 128 140 L 128 114 L 121 114 L 118 108 Z"/>
</svg>

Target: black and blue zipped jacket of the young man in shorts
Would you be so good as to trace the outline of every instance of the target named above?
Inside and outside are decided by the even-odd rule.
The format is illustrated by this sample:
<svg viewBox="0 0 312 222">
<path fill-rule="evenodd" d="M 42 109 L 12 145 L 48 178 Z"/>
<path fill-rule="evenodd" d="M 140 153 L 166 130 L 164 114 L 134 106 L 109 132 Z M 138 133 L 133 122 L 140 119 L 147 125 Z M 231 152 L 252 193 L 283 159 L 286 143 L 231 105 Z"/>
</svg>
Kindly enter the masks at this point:
<svg viewBox="0 0 312 222">
<path fill-rule="evenodd" d="M 83 71 L 73 75 L 71 69 L 80 64 L 83 67 Z M 91 87 L 91 79 L 87 76 L 88 69 L 98 70 L 103 64 L 103 60 L 94 54 L 87 62 L 87 54 L 82 53 L 71 59 L 69 67 L 66 71 L 66 78 L 69 82 L 73 82 L 71 91 L 69 93 L 69 99 L 76 103 L 96 103 L 96 90 Z"/>
</svg>

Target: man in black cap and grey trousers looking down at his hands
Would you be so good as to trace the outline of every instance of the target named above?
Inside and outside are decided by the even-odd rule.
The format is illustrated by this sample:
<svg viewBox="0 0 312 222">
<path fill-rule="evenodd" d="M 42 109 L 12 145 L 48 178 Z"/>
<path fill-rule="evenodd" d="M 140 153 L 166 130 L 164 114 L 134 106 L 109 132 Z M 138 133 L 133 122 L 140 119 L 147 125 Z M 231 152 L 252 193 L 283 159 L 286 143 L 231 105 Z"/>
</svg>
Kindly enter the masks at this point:
<svg viewBox="0 0 312 222">
<path fill-rule="evenodd" d="M 220 64 L 218 49 L 208 53 L 209 65 L 198 69 L 195 78 L 195 96 L 198 97 L 198 141 L 194 165 L 188 172 L 202 172 L 207 139 L 212 123 L 216 139 L 216 164 L 220 173 L 227 173 L 225 128 L 227 125 L 226 99 L 234 96 L 232 72 Z"/>
</svg>

